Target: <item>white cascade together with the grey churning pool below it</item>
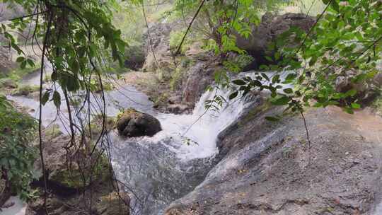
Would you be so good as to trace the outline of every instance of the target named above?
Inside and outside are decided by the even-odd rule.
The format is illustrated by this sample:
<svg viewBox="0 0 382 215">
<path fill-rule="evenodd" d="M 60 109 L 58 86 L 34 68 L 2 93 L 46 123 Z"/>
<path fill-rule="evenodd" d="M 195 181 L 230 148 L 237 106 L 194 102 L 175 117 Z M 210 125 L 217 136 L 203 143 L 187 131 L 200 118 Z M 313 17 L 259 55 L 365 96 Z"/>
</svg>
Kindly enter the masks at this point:
<svg viewBox="0 0 382 215">
<path fill-rule="evenodd" d="M 163 214 L 175 199 L 192 191 L 212 168 L 219 133 L 240 117 L 250 103 L 236 99 L 219 110 L 204 103 L 231 91 L 207 91 L 191 115 L 154 112 L 162 131 L 152 137 L 125 139 L 112 133 L 112 163 L 117 178 L 137 194 L 132 214 Z M 189 139 L 189 144 L 185 140 Z"/>
</svg>

